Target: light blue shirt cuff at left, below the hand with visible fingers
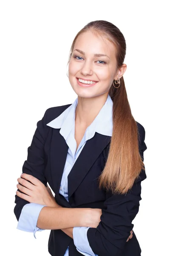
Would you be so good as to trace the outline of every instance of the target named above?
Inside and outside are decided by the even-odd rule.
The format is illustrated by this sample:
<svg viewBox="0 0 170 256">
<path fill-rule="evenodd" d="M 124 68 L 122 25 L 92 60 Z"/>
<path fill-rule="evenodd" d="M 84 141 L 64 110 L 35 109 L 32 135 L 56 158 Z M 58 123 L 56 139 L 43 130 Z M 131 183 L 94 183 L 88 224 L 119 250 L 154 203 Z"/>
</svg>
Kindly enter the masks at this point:
<svg viewBox="0 0 170 256">
<path fill-rule="evenodd" d="M 35 233 L 37 231 L 43 230 L 37 227 L 37 220 L 38 220 L 40 211 L 44 206 L 46 205 L 35 204 L 35 203 L 24 205 L 20 214 L 18 224 L 17 224 L 17 229 L 26 231 L 26 232 L 32 232 L 34 233 L 34 237 L 35 237 Z"/>
</svg>

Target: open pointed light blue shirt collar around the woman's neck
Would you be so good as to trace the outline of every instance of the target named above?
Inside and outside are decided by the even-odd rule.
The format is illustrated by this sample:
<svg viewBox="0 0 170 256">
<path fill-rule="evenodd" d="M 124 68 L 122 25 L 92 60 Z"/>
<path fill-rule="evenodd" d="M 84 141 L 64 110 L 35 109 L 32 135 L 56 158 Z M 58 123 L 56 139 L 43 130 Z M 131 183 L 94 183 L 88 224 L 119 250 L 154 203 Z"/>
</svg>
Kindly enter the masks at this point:
<svg viewBox="0 0 170 256">
<path fill-rule="evenodd" d="M 75 110 L 78 97 L 65 111 L 47 125 L 52 128 L 61 128 L 60 134 L 66 139 L 75 125 Z M 99 111 L 94 121 L 88 127 L 89 137 L 93 137 L 95 132 L 106 136 L 112 136 L 113 131 L 113 101 L 108 94 L 108 98 Z"/>
</svg>

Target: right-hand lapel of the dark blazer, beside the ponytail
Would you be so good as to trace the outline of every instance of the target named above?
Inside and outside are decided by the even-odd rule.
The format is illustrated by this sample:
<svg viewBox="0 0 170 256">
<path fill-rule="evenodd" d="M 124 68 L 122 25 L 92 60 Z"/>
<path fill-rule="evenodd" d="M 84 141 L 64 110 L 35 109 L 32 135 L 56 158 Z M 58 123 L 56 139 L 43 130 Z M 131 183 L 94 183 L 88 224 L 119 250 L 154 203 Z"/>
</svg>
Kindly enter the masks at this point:
<svg viewBox="0 0 170 256">
<path fill-rule="evenodd" d="M 110 136 L 96 132 L 94 137 L 86 142 L 68 175 L 68 199 L 73 195 L 99 154 L 102 153 L 110 141 Z"/>
</svg>

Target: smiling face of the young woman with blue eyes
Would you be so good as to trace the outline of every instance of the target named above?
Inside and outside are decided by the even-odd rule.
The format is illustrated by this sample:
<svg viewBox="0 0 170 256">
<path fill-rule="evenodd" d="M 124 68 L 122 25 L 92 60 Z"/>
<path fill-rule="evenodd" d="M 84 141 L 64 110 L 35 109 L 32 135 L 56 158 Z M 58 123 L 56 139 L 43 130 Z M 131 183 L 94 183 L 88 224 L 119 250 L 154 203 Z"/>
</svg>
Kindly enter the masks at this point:
<svg viewBox="0 0 170 256">
<path fill-rule="evenodd" d="M 113 79 L 117 80 L 116 73 L 114 44 L 92 32 L 79 35 L 68 69 L 69 81 L 75 93 L 84 98 L 108 94 Z"/>
</svg>

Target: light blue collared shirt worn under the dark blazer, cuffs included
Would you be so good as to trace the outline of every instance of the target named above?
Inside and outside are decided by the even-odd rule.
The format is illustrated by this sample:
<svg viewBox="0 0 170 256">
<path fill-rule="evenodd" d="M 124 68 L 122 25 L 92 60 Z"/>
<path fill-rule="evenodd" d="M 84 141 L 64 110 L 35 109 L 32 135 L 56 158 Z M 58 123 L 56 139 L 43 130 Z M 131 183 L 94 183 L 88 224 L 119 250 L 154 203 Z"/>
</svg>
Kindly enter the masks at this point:
<svg viewBox="0 0 170 256">
<path fill-rule="evenodd" d="M 62 175 L 62 180 L 60 184 L 59 194 L 63 195 L 68 201 L 68 174 L 70 173 L 77 157 L 82 151 L 82 148 L 85 146 L 87 140 L 90 140 L 94 137 L 95 132 L 103 134 L 106 136 L 112 136 L 113 131 L 113 101 L 108 95 L 108 98 L 99 111 L 98 115 L 88 126 L 85 131 L 85 134 L 77 148 L 77 143 L 75 140 L 75 110 L 77 107 L 78 98 L 74 101 L 70 107 L 63 111 L 57 118 L 49 122 L 47 125 L 52 128 L 60 128 L 59 133 L 64 137 L 68 145 L 68 154 L 65 162 L 65 167 Z M 77 151 L 76 151 L 77 148 Z M 17 224 L 17 229 L 33 232 L 34 237 L 37 231 L 42 231 L 37 227 L 37 220 L 40 214 L 41 209 L 45 205 L 40 204 L 26 204 L 20 214 L 20 218 Z M 79 251 L 85 256 L 98 256 L 95 254 L 88 242 L 87 231 L 90 227 L 74 227 L 73 228 L 73 239 L 74 244 Z M 36 238 L 36 237 L 35 237 Z M 65 255 L 68 256 L 67 248 Z"/>
</svg>

